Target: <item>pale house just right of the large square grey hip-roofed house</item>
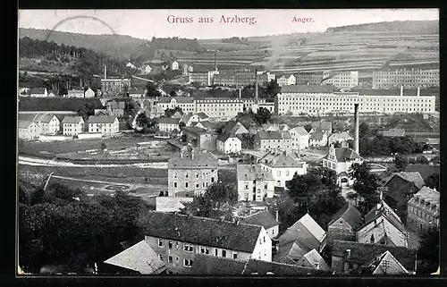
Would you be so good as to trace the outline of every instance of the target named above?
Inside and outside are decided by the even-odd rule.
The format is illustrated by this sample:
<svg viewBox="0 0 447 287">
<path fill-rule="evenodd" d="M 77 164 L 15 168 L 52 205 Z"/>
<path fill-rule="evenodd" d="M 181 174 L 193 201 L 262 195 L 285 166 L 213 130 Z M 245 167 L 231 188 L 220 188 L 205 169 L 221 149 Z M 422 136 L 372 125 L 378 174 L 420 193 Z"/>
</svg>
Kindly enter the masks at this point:
<svg viewBox="0 0 447 287">
<path fill-rule="evenodd" d="M 239 200 L 264 201 L 274 197 L 274 177 L 259 165 L 237 165 Z"/>
</svg>

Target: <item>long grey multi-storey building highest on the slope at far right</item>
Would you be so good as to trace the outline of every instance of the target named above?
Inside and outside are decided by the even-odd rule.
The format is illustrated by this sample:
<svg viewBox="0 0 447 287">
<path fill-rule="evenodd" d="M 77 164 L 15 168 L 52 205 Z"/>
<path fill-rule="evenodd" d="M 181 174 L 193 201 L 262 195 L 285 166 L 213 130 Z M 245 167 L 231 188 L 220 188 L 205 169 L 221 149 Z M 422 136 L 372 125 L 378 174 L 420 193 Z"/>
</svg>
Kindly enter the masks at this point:
<svg viewBox="0 0 447 287">
<path fill-rule="evenodd" d="M 373 71 L 373 89 L 391 89 L 401 86 L 410 89 L 415 89 L 417 87 L 438 88 L 439 69 Z"/>
</svg>

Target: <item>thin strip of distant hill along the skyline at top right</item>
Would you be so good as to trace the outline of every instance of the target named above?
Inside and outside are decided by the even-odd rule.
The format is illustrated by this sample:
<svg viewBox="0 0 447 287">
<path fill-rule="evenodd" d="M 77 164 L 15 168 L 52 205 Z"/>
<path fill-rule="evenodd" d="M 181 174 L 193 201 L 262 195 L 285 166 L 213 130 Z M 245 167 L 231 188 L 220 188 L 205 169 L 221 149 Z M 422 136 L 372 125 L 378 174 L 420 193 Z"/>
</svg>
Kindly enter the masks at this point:
<svg viewBox="0 0 447 287">
<path fill-rule="evenodd" d="M 438 34 L 439 21 L 384 21 L 378 23 L 330 27 L 326 30 L 327 33 L 373 31 L 401 31 L 421 34 Z"/>
</svg>

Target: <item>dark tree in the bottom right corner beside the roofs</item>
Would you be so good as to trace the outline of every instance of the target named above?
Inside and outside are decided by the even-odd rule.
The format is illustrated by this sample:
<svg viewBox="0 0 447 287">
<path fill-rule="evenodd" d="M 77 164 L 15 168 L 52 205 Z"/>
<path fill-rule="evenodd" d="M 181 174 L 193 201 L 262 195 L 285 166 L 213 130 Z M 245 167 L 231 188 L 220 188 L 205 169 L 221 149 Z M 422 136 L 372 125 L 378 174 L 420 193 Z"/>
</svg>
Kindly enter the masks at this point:
<svg viewBox="0 0 447 287">
<path fill-rule="evenodd" d="M 417 266 L 419 274 L 434 273 L 439 267 L 439 230 L 432 228 L 422 233 L 417 258 L 421 263 Z"/>
</svg>

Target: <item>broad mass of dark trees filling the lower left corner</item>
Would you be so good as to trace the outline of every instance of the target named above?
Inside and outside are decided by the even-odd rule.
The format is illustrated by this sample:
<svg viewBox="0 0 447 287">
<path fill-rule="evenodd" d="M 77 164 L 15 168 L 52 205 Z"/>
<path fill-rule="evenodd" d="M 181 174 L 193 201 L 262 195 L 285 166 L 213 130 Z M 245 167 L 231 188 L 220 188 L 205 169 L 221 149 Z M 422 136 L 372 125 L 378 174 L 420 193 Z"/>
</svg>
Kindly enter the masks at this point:
<svg viewBox="0 0 447 287">
<path fill-rule="evenodd" d="M 78 274 L 99 266 L 122 250 L 120 242 L 140 235 L 135 220 L 148 210 L 144 201 L 122 192 L 89 198 L 61 184 L 19 190 L 19 262 L 33 274 L 45 265 Z M 34 199 L 26 200 L 24 193 Z"/>
</svg>

